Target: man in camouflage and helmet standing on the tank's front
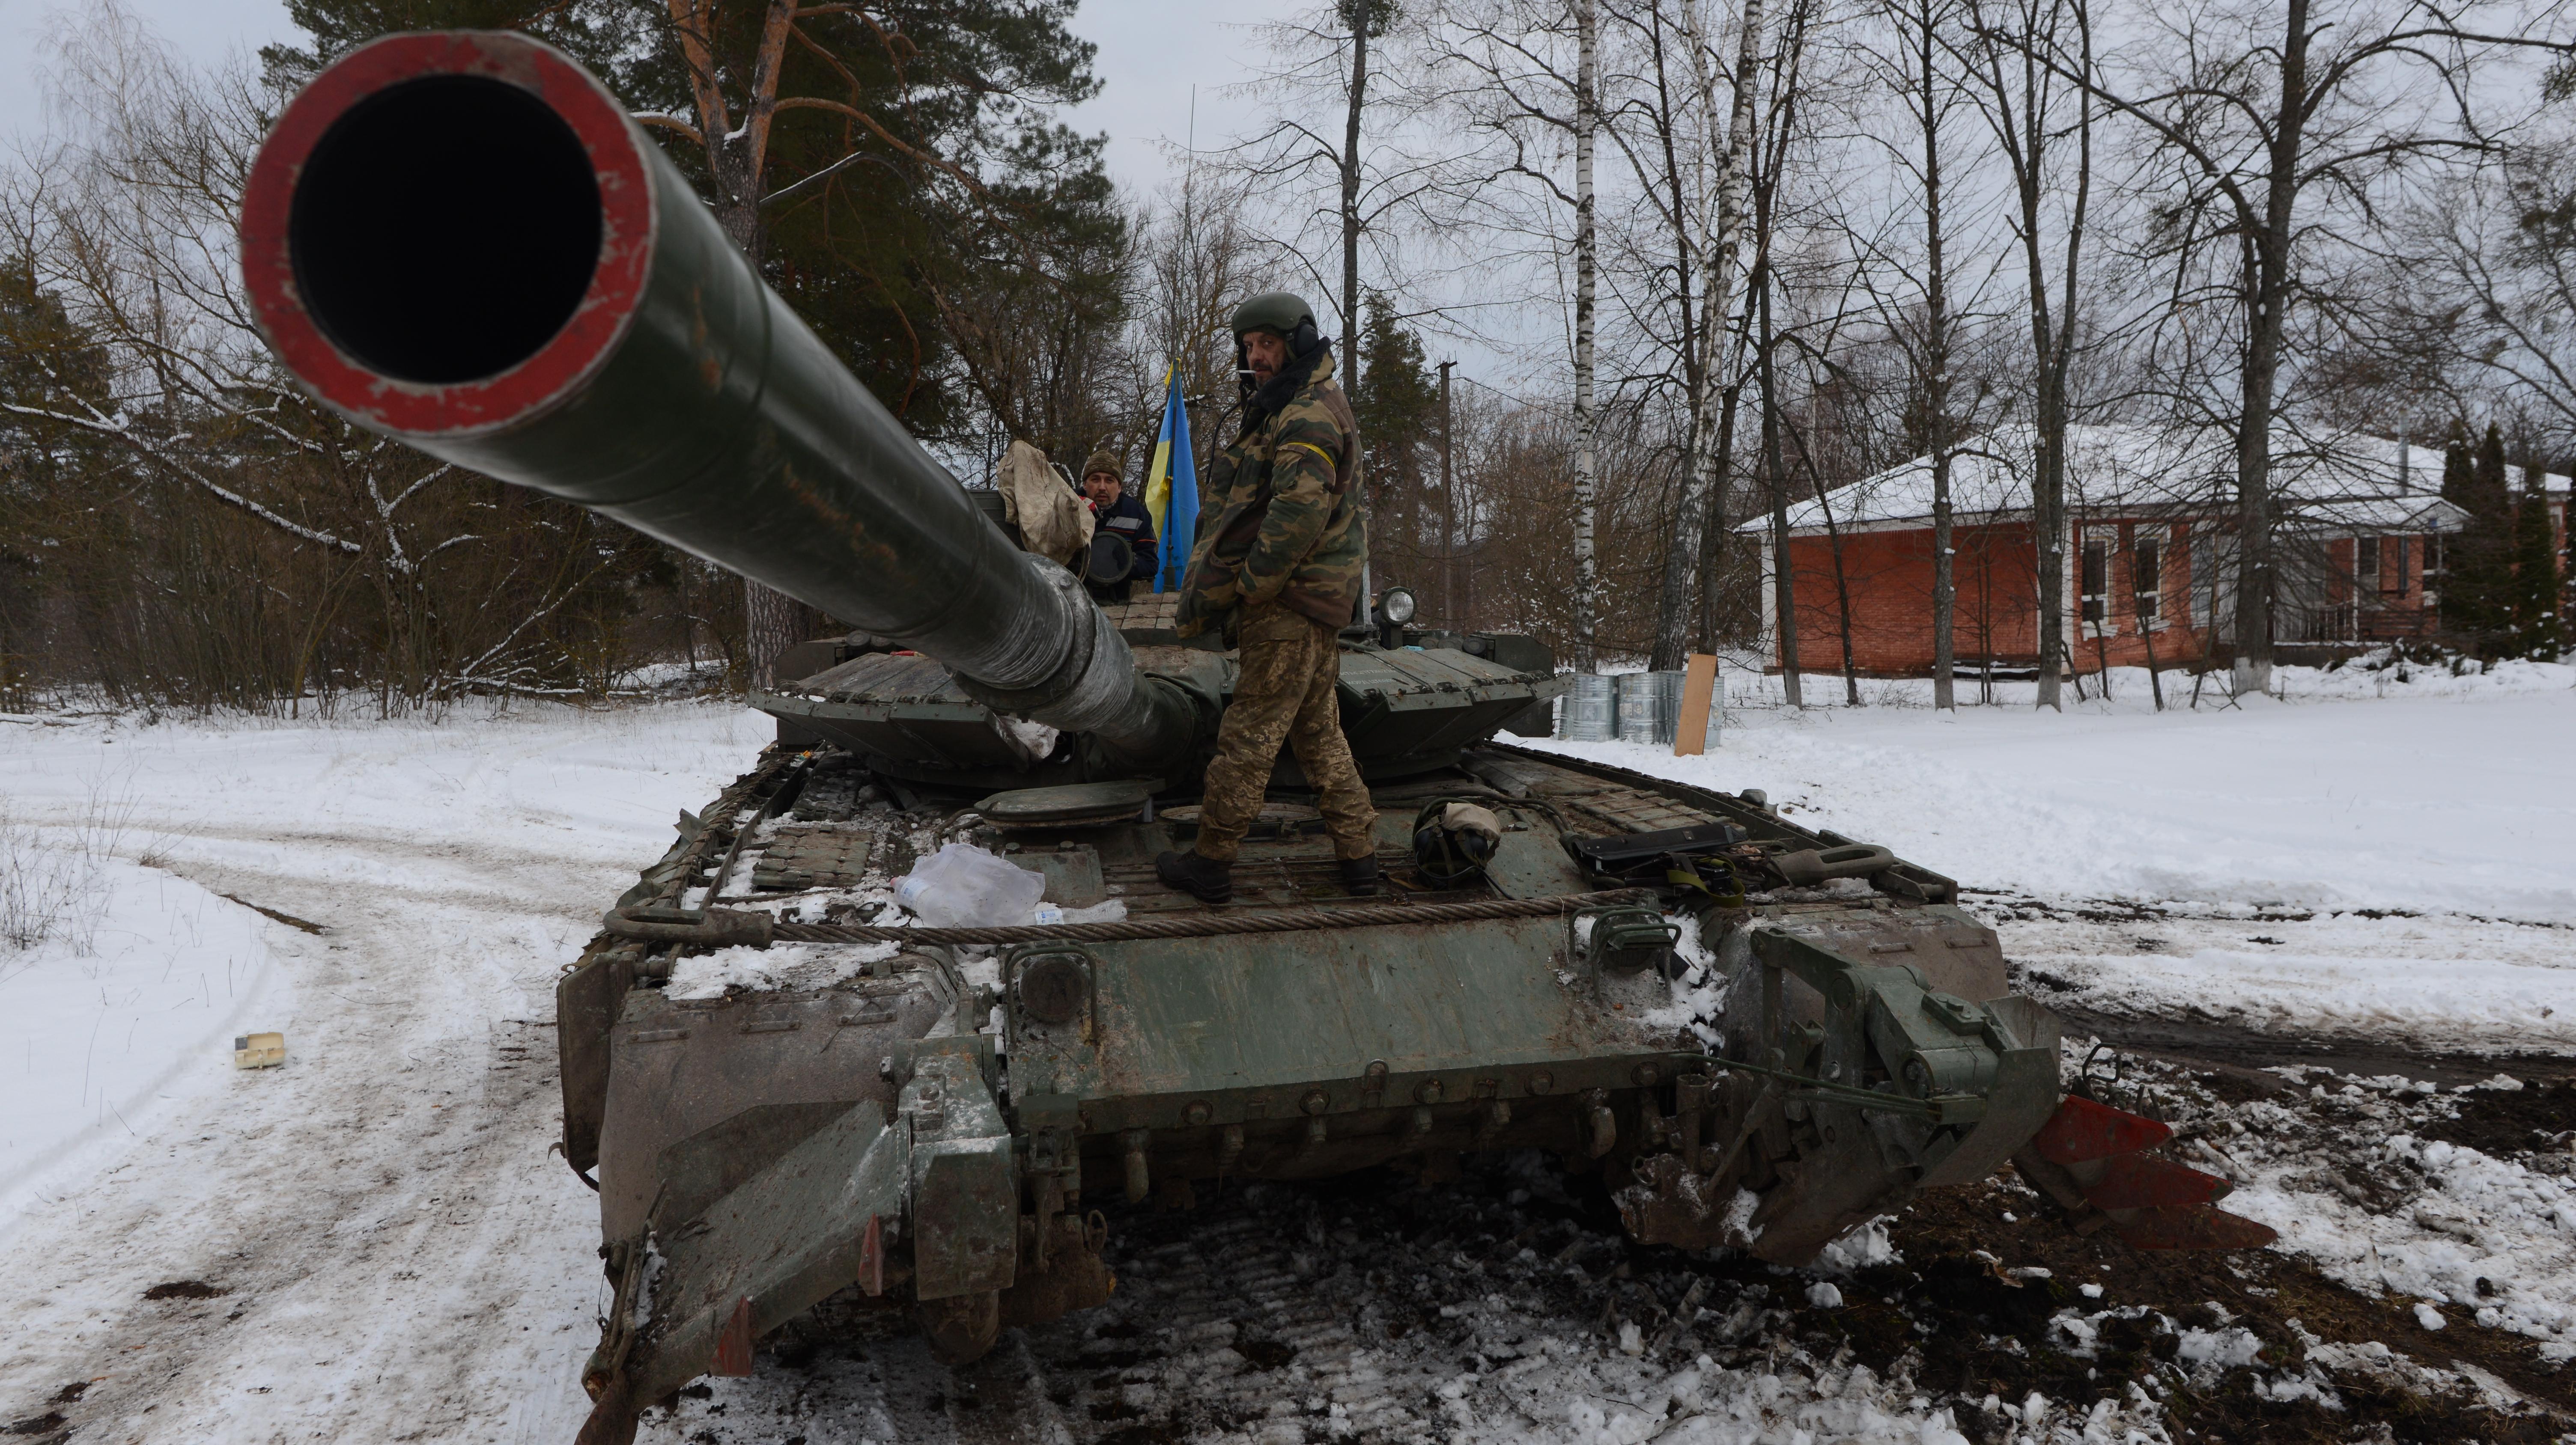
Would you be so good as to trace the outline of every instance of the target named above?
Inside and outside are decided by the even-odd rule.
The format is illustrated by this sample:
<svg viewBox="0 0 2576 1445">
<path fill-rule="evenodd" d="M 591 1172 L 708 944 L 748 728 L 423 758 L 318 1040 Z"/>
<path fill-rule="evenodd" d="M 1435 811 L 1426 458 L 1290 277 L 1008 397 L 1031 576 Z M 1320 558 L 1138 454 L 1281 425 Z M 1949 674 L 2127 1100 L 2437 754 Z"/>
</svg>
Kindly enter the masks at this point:
<svg viewBox="0 0 2576 1445">
<path fill-rule="evenodd" d="M 1208 469 L 1208 507 L 1180 585 L 1180 636 L 1224 628 L 1242 680 L 1216 732 L 1198 845 L 1154 876 L 1200 902 L 1234 896 L 1234 850 L 1262 809 L 1280 742 L 1321 791 L 1352 894 L 1378 891 L 1378 814 L 1342 737 L 1342 639 L 1360 608 L 1360 425 L 1332 379 L 1306 301 L 1270 291 L 1234 309 L 1244 428 Z"/>
</svg>

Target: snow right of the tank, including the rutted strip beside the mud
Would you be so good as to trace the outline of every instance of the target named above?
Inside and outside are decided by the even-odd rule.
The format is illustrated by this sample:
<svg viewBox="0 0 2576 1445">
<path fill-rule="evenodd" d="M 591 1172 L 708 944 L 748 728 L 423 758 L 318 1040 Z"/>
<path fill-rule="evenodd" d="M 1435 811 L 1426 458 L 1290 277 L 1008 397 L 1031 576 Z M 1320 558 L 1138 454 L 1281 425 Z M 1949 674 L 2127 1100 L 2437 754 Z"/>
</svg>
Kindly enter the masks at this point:
<svg viewBox="0 0 2576 1445">
<path fill-rule="evenodd" d="M 1770 703 L 1777 677 L 1728 688 Z M 2282 670 L 2287 701 L 2164 713 L 2143 672 L 2066 716 L 2027 683 L 1958 713 L 1927 683 L 1862 688 L 1731 706 L 1695 760 L 1538 747 L 1883 842 L 1986 891 L 2014 961 L 2112 1012 L 2576 1053 L 2576 667 Z"/>
</svg>

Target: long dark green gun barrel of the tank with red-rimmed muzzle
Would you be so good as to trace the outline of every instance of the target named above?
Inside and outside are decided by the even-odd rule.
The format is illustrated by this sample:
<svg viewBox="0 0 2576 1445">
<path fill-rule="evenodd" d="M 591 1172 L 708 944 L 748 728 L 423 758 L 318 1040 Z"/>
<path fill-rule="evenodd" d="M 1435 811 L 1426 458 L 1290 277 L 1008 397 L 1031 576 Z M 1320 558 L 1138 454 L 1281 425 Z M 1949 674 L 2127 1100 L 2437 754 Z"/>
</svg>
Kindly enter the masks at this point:
<svg viewBox="0 0 2576 1445">
<path fill-rule="evenodd" d="M 992 528 L 587 70 L 502 31 L 361 46 L 242 196 L 260 332 L 348 420 L 940 659 L 1146 770 L 1198 713 Z"/>
</svg>

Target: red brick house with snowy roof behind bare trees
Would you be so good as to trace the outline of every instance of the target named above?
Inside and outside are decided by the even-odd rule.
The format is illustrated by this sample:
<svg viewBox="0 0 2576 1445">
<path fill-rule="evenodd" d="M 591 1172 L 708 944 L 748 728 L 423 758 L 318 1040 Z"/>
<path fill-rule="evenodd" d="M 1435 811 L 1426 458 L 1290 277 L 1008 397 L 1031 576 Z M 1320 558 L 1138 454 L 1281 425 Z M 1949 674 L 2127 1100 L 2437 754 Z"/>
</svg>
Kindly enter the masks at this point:
<svg viewBox="0 0 2576 1445">
<path fill-rule="evenodd" d="M 2442 451 L 2347 435 L 2275 451 L 2280 587 L 2275 649 L 2329 657 L 2424 636 L 2437 621 L 2442 536 L 2468 515 L 2439 497 Z M 1950 469 L 1953 654 L 1963 672 L 2038 665 L 2038 546 L 2030 533 L 2032 430 L 1999 428 Z M 2524 477 L 2512 474 L 2519 492 Z M 2566 518 L 2566 477 L 2545 479 Z M 2223 438 L 2151 428 L 2071 428 L 2063 543 L 2066 654 L 2079 672 L 2223 659 L 2236 621 L 2233 453 Z M 1788 513 L 1798 667 L 1878 677 L 1932 670 L 1932 464 L 1917 458 Z M 1762 621 L 1777 631 L 1780 564 L 1762 538 Z M 2563 533 L 2561 533 L 2563 536 Z M 1777 641 L 1772 670 L 1780 667 Z"/>
</svg>

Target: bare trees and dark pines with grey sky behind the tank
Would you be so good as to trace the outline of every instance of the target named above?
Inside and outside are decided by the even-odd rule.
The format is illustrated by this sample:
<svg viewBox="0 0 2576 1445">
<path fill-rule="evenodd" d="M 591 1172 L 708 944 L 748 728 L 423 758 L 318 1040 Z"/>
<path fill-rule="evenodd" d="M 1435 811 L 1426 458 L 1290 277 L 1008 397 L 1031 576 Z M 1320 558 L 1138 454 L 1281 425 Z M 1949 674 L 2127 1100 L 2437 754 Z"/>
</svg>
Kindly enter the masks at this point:
<svg viewBox="0 0 2576 1445">
<path fill-rule="evenodd" d="M 1427 623 L 1574 665 L 1765 647 L 1762 518 L 2032 435 L 2045 520 L 2066 428 L 2133 422 L 2197 438 L 2239 520 L 2257 685 L 2280 477 L 2357 430 L 2450 446 L 2442 641 L 2568 644 L 2563 543 L 2504 471 L 2576 461 L 2558 3 L 1334 0 L 1247 28 L 1265 124 L 1157 193 L 1064 124 L 1097 90 L 1066 0 L 289 10 L 301 44 L 245 64 L 113 3 L 49 36 L 57 124 L 0 165 L 0 708 L 739 688 L 827 626 L 270 363 L 229 250 L 250 155 L 332 57 L 443 26 L 600 72 L 969 487 L 1012 438 L 1133 482 L 1167 366 L 1206 458 L 1226 312 L 1306 294 L 1376 577 Z"/>
</svg>

